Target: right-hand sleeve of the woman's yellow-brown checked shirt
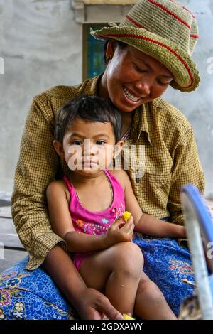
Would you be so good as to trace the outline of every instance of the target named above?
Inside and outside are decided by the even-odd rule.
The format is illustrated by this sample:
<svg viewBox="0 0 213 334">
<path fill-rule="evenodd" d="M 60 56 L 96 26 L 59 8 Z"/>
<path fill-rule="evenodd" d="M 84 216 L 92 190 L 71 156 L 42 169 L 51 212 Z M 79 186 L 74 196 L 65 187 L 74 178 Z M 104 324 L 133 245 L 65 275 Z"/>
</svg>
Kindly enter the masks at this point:
<svg viewBox="0 0 213 334">
<path fill-rule="evenodd" d="M 184 225 L 182 206 L 180 201 L 180 190 L 182 185 L 192 183 L 196 185 L 201 193 L 204 193 L 204 172 L 197 153 L 197 146 L 192 128 L 188 129 L 184 141 L 175 149 L 174 166 L 170 193 L 168 198 L 168 210 L 170 211 L 170 222 Z"/>
</svg>

